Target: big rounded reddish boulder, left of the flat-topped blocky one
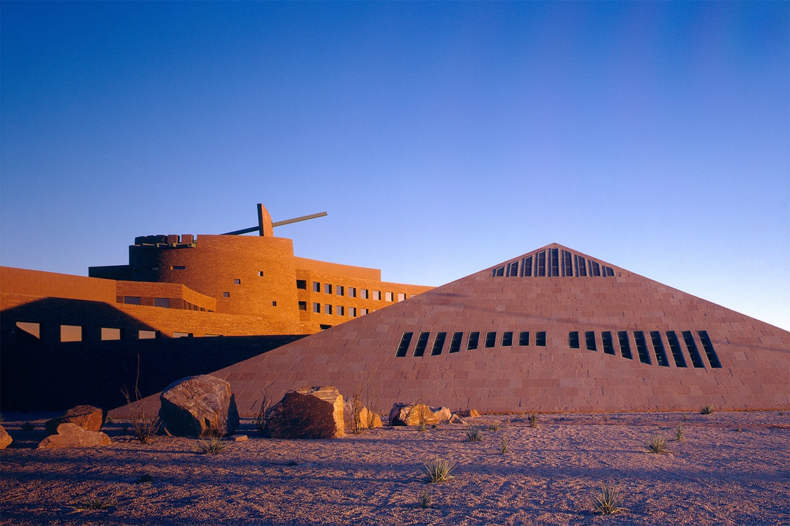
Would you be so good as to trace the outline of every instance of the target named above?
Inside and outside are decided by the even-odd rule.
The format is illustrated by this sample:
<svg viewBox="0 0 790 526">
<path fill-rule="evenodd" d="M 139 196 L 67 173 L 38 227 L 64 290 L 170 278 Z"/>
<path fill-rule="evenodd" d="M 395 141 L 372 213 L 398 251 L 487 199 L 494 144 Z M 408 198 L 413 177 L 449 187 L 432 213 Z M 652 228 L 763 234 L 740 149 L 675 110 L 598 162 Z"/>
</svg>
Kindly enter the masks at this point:
<svg viewBox="0 0 790 526">
<path fill-rule="evenodd" d="M 159 399 L 162 431 L 171 435 L 207 438 L 232 435 L 239 428 L 231 384 L 216 376 L 189 376 L 173 382 Z"/>
</svg>

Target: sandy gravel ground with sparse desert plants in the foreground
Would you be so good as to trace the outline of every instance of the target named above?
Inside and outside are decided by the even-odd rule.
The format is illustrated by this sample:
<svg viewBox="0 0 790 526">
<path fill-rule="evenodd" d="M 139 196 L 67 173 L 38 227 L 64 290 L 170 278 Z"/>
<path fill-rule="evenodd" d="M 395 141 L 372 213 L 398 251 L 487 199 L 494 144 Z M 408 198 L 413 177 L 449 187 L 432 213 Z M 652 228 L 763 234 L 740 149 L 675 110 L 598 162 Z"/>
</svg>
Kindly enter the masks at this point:
<svg viewBox="0 0 790 526">
<path fill-rule="evenodd" d="M 489 415 L 469 420 L 501 423 L 483 442 L 461 425 L 272 440 L 243 420 L 249 440 L 216 455 L 188 438 L 141 445 L 121 423 L 105 429 L 111 446 L 38 451 L 45 420 L 21 431 L 30 418 L 6 415 L 16 447 L 0 451 L 0 524 L 790 524 L 790 416 L 778 412 L 541 415 L 535 428 Z M 656 434 L 671 454 L 645 452 Z M 455 464 L 450 482 L 425 482 L 436 458 Z M 626 512 L 592 512 L 602 483 Z M 70 507 L 85 496 L 117 504 Z"/>
</svg>

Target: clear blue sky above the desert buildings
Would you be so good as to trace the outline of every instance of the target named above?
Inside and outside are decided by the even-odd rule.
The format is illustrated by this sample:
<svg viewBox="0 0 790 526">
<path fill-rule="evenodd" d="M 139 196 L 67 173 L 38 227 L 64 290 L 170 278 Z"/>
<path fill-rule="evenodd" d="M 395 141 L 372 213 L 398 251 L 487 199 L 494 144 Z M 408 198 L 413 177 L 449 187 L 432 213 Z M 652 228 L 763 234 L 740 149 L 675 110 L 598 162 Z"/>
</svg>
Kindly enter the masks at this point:
<svg viewBox="0 0 790 526">
<path fill-rule="evenodd" d="M 252 226 L 441 285 L 558 242 L 790 329 L 788 2 L 2 2 L 0 263 Z"/>
</svg>

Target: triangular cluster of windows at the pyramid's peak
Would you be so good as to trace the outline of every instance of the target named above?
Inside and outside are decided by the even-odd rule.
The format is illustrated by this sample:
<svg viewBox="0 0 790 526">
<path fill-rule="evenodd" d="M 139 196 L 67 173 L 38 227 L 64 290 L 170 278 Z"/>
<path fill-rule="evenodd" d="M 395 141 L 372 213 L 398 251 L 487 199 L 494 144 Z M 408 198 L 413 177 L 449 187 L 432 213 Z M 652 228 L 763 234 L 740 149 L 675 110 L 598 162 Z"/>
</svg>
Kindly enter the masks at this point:
<svg viewBox="0 0 790 526">
<path fill-rule="evenodd" d="M 506 278 L 529 278 L 539 277 L 603 277 L 611 278 L 615 275 L 615 269 L 599 264 L 592 259 L 585 259 L 573 252 L 560 250 L 559 248 L 548 248 L 527 256 L 517 261 L 506 263 L 503 267 L 497 267 L 493 271 L 494 277 L 504 276 Z"/>
</svg>

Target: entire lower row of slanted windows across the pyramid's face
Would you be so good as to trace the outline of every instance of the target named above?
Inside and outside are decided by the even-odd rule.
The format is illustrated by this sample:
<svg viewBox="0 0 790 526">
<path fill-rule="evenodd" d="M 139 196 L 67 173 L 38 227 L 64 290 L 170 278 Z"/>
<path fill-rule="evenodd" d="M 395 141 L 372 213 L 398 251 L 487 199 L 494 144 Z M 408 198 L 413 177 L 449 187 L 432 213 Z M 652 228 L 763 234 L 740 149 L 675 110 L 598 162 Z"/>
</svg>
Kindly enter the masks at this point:
<svg viewBox="0 0 790 526">
<path fill-rule="evenodd" d="M 583 332 L 585 338 L 585 349 L 597 353 L 598 345 L 596 343 L 596 331 L 585 330 Z M 634 356 L 633 353 L 631 353 L 632 347 L 630 344 L 629 331 L 618 330 L 615 332 L 617 334 L 617 341 L 619 344 L 619 356 L 627 360 L 633 360 Z M 664 338 L 666 338 L 666 341 L 669 344 L 669 349 L 671 352 L 670 356 L 672 356 L 674 366 L 680 368 L 688 367 L 686 357 L 684 356 L 683 349 L 681 348 L 680 341 L 675 330 L 665 330 L 664 335 L 662 335 L 662 331 L 660 330 L 649 330 L 647 332 L 649 333 L 650 341 L 653 347 L 653 356 L 656 358 L 657 366 L 670 367 L 670 362 L 667 359 L 667 353 L 664 347 Z M 694 334 L 692 334 L 692 331 L 682 330 L 679 332 L 683 334 L 683 342 L 686 345 L 686 353 L 690 357 L 691 364 L 693 364 L 695 368 L 704 369 L 705 364 L 703 363 L 702 356 L 699 353 L 698 345 L 696 341 L 694 341 Z M 713 369 L 722 368 L 719 356 L 716 353 L 716 349 L 713 347 L 713 341 L 711 341 L 708 331 L 697 330 L 695 332 L 698 335 L 698 340 L 702 344 L 702 349 L 705 350 L 705 356 L 708 359 L 709 367 Z M 637 349 L 639 361 L 642 364 L 652 365 L 653 360 L 648 349 L 645 331 L 633 330 L 631 333 L 633 334 L 633 341 L 635 348 Z M 409 356 L 409 351 L 411 351 L 412 357 L 423 357 L 426 356 L 426 351 L 429 348 L 431 349 L 429 356 L 439 356 L 445 350 L 445 343 L 448 341 L 448 334 L 451 334 L 450 345 L 447 352 L 448 354 L 460 353 L 462 350 L 474 351 L 479 349 L 481 346 L 483 349 L 505 348 L 516 345 L 519 347 L 530 346 L 529 330 L 505 330 L 502 331 L 501 336 L 498 335 L 499 333 L 496 330 L 472 330 L 468 332 L 465 332 L 464 330 L 440 330 L 433 334 L 430 330 L 422 330 L 419 331 L 419 337 L 416 338 L 416 343 L 412 347 L 412 339 L 414 339 L 414 334 L 415 331 L 406 331 L 402 334 L 401 341 L 398 343 L 397 349 L 395 349 L 395 356 L 397 358 Z M 546 331 L 538 330 L 535 331 L 534 334 L 535 346 L 546 347 Z M 429 341 L 431 336 L 434 338 L 432 343 Z M 517 344 L 515 343 L 516 341 Z M 615 340 L 612 336 L 611 330 L 601 330 L 599 341 L 602 344 L 601 347 L 604 354 L 617 356 L 617 353 L 615 352 Z M 578 330 L 570 330 L 568 332 L 568 348 L 581 349 Z"/>
</svg>

